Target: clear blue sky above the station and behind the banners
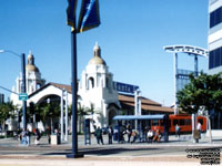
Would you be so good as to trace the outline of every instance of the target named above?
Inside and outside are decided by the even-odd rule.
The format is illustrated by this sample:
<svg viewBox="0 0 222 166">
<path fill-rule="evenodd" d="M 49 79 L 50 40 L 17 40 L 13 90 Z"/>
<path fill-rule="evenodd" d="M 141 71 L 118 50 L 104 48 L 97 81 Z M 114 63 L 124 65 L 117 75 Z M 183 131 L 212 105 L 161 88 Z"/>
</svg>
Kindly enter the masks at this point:
<svg viewBox="0 0 222 166">
<path fill-rule="evenodd" d="M 80 0 L 77 14 L 79 15 Z M 93 56 L 95 42 L 113 80 L 140 86 L 141 94 L 173 103 L 173 54 L 164 45 L 208 48 L 208 0 L 100 0 L 101 24 L 77 35 L 78 79 Z M 71 82 L 71 32 L 68 0 L 0 0 L 0 50 L 36 58 L 48 82 Z M 179 68 L 194 70 L 194 60 L 179 54 Z M 208 59 L 199 58 L 208 72 Z M 21 61 L 0 53 L 0 86 L 12 89 Z M 0 89 L 7 97 L 10 93 Z M 7 100 L 7 98 L 6 98 Z"/>
</svg>

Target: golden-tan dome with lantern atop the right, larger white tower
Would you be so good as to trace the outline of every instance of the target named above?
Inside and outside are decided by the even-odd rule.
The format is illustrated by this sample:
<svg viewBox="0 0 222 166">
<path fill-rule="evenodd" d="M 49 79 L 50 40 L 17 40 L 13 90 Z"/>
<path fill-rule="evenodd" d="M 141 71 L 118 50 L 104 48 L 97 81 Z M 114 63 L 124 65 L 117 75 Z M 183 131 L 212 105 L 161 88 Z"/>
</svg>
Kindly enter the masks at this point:
<svg viewBox="0 0 222 166">
<path fill-rule="evenodd" d="M 103 65 L 107 65 L 105 61 L 101 58 L 101 49 L 98 45 L 98 43 L 95 43 L 95 45 L 93 48 L 93 52 L 94 52 L 94 56 L 89 61 L 89 64 L 103 64 Z"/>
</svg>

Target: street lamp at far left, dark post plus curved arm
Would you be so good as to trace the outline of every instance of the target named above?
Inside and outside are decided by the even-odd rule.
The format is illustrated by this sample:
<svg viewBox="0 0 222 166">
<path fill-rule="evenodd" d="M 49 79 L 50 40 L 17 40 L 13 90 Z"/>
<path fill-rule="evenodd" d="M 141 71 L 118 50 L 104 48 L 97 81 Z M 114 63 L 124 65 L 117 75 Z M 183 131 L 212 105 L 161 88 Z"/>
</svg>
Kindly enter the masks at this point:
<svg viewBox="0 0 222 166">
<path fill-rule="evenodd" d="M 24 53 L 18 54 L 10 50 L 0 50 L 0 53 L 9 52 L 16 56 L 21 59 L 21 72 L 22 72 L 22 84 L 21 84 L 21 93 L 27 94 L 27 86 L 26 86 L 26 58 Z M 27 131 L 27 101 L 22 100 L 22 114 L 23 114 L 23 128 Z"/>
</svg>

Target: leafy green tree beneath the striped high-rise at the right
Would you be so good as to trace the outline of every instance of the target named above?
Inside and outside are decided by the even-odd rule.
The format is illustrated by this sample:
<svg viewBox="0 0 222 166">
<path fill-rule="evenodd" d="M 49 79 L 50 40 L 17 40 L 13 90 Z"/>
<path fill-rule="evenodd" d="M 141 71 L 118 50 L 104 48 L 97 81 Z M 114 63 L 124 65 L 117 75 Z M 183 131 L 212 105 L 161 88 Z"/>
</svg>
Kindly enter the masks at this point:
<svg viewBox="0 0 222 166">
<path fill-rule="evenodd" d="M 203 72 L 198 77 L 190 75 L 190 83 L 176 93 L 179 107 L 186 113 L 205 110 L 222 111 L 222 73 L 208 75 Z"/>
</svg>

